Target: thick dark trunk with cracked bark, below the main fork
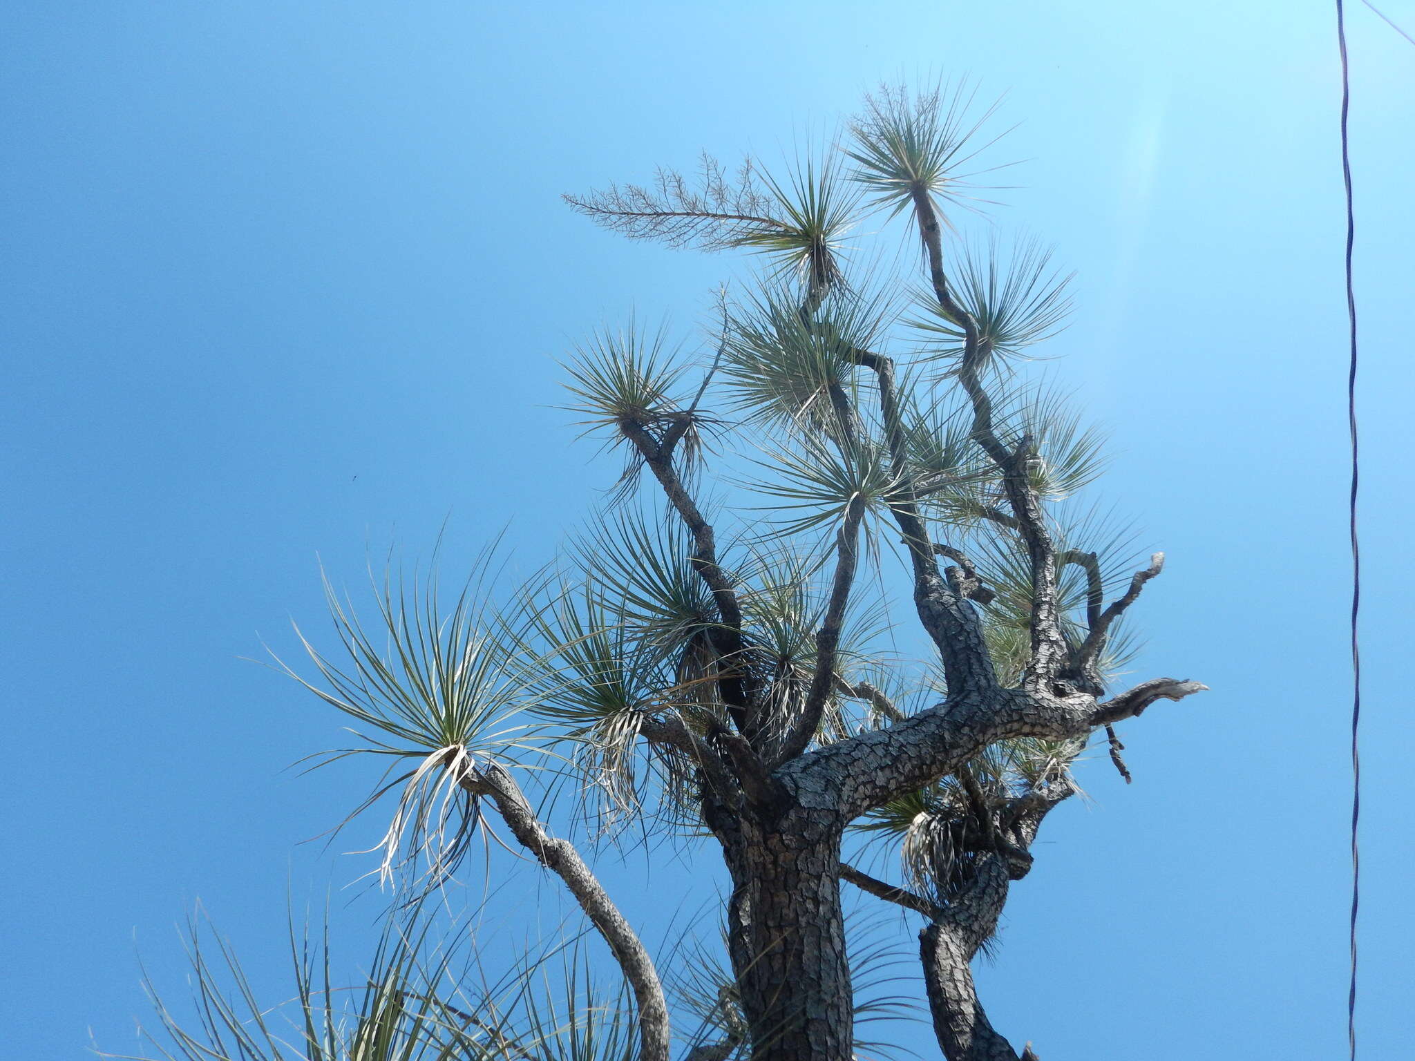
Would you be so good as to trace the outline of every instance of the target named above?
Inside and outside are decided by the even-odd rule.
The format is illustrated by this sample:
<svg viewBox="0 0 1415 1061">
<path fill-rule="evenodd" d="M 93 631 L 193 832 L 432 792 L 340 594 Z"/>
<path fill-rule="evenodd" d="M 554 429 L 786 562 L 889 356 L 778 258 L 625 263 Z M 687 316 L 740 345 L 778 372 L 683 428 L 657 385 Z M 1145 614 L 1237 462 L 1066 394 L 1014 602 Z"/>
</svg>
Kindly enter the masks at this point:
<svg viewBox="0 0 1415 1061">
<path fill-rule="evenodd" d="M 753 1061 L 850 1061 L 841 828 L 799 806 L 770 823 L 743 815 L 734 826 L 719 837 L 734 886 L 729 937 Z"/>
</svg>

